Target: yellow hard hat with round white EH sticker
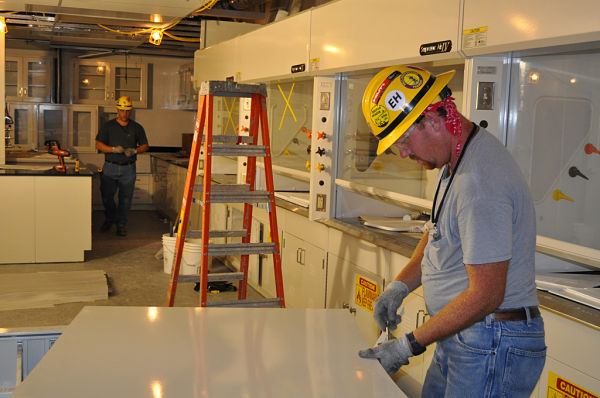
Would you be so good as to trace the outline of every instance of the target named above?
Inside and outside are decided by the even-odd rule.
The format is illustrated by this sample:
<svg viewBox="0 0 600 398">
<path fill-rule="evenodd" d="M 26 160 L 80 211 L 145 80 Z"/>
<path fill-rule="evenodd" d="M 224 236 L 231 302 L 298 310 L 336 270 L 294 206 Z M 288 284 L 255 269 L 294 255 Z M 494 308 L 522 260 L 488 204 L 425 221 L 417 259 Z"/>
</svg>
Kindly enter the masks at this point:
<svg viewBox="0 0 600 398">
<path fill-rule="evenodd" d="M 373 77 L 363 94 L 362 111 L 385 152 L 446 87 L 456 71 L 433 76 L 409 65 L 390 66 Z"/>
</svg>

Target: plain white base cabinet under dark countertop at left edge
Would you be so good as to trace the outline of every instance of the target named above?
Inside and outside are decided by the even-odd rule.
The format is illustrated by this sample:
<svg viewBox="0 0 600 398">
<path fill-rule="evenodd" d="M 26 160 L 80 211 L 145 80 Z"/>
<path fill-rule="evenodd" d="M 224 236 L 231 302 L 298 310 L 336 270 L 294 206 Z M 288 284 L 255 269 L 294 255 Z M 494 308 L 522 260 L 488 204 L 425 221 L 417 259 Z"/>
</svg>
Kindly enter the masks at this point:
<svg viewBox="0 0 600 398">
<path fill-rule="evenodd" d="M 92 248 L 91 176 L 0 177 L 0 263 L 83 261 Z"/>
</svg>

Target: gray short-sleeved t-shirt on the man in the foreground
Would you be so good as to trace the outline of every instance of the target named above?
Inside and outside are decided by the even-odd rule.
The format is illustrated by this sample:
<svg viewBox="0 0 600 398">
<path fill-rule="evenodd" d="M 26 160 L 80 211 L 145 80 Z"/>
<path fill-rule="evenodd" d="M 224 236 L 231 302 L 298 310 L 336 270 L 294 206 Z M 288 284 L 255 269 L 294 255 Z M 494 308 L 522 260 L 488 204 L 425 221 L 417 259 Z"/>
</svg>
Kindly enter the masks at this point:
<svg viewBox="0 0 600 398">
<path fill-rule="evenodd" d="M 535 208 L 521 170 L 508 150 L 489 132 L 473 137 L 446 195 L 447 167 L 440 170 L 440 213 L 435 241 L 421 263 L 427 311 L 439 312 L 469 284 L 464 264 L 509 260 L 500 308 L 538 305 L 535 290 Z"/>
</svg>

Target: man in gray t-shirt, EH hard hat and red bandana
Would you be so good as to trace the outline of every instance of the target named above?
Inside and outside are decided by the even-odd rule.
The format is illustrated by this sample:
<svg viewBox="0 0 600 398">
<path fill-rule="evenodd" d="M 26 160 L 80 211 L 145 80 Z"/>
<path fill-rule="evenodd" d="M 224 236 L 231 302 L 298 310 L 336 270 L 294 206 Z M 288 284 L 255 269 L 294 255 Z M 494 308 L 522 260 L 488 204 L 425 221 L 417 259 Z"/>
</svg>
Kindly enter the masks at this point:
<svg viewBox="0 0 600 398">
<path fill-rule="evenodd" d="M 394 66 L 365 90 L 377 154 L 393 146 L 440 171 L 430 229 L 373 311 L 382 331 L 396 329 L 402 301 L 422 285 L 430 318 L 359 355 L 393 375 L 436 343 L 423 397 L 529 397 L 546 356 L 535 209 L 507 149 L 457 111 L 447 88 L 453 75 Z"/>
</svg>

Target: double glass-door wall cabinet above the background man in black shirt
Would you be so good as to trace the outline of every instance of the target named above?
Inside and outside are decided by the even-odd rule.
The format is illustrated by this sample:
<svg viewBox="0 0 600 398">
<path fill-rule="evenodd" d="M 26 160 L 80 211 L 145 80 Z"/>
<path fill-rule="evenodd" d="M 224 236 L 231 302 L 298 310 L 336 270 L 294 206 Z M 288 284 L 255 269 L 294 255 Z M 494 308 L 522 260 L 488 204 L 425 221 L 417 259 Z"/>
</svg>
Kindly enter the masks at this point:
<svg viewBox="0 0 600 398">
<path fill-rule="evenodd" d="M 74 103 L 113 106 L 126 95 L 136 108 L 146 108 L 148 104 L 147 63 L 83 60 L 75 64 L 74 75 Z"/>
</svg>

